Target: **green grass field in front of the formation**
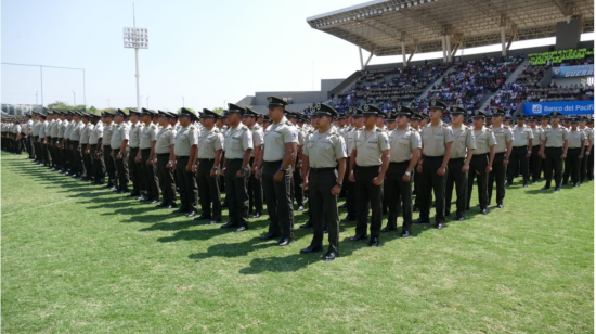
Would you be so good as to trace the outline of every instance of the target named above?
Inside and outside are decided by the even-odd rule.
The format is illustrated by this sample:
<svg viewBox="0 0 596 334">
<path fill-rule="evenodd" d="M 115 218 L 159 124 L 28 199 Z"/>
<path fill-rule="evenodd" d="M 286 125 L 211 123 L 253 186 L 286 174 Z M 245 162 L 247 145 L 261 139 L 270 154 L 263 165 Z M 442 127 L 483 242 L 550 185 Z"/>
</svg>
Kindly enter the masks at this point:
<svg viewBox="0 0 596 334">
<path fill-rule="evenodd" d="M 299 254 L 310 231 L 259 241 L 267 216 L 238 234 L 1 158 L 4 333 L 594 330 L 593 183 L 517 182 L 505 209 L 383 234 L 378 248 L 342 223 L 341 257 L 325 262 Z"/>
</svg>

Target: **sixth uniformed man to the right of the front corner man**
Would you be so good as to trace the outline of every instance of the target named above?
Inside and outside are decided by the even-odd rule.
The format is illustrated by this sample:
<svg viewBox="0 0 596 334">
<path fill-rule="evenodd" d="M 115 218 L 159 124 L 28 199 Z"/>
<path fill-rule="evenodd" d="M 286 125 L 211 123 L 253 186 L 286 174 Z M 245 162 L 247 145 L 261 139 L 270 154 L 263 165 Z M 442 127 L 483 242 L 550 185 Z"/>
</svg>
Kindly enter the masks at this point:
<svg viewBox="0 0 596 334">
<path fill-rule="evenodd" d="M 507 172 L 507 165 L 509 164 L 509 155 L 511 154 L 511 146 L 514 144 L 514 132 L 509 127 L 502 124 L 505 111 L 501 108 L 493 108 L 493 121 L 491 131 L 493 131 L 494 139 L 496 139 L 496 146 L 494 149 L 494 162 L 493 170 L 489 174 L 489 204 L 493 194 L 493 184 L 496 182 L 496 207 L 503 208 L 503 200 L 505 200 L 505 177 Z"/>
</svg>

